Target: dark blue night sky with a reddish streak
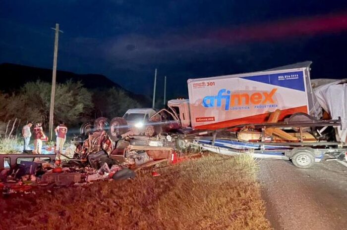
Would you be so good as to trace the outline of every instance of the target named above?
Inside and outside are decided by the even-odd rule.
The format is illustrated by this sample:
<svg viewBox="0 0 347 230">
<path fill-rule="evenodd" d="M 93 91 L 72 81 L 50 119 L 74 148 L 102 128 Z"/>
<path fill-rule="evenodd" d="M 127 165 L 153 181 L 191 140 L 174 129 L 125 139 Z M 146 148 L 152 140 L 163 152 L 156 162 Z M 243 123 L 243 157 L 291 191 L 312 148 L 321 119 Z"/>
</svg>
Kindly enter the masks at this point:
<svg viewBox="0 0 347 230">
<path fill-rule="evenodd" d="M 186 80 L 311 60 L 347 78 L 347 0 L 0 0 L 0 63 L 104 74 L 124 88 L 186 95 Z M 97 81 L 97 79 L 95 79 Z"/>
</svg>

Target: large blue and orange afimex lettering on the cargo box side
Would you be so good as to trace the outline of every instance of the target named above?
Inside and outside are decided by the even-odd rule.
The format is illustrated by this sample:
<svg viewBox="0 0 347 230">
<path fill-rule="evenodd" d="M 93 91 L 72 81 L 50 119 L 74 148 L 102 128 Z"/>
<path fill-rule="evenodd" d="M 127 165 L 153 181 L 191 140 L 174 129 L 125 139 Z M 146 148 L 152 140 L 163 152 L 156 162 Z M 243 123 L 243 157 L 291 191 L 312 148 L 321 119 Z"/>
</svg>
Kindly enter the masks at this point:
<svg viewBox="0 0 347 230">
<path fill-rule="evenodd" d="M 230 106 L 235 105 L 249 105 L 249 104 L 275 104 L 274 94 L 277 91 L 277 88 L 272 89 L 270 92 L 254 92 L 249 93 L 232 93 L 226 89 L 222 89 L 218 92 L 216 96 L 205 96 L 202 100 L 202 105 L 204 107 L 215 107 L 215 102 L 217 101 L 217 107 L 222 106 L 222 100 L 225 100 L 225 110 L 229 110 Z M 223 94 L 227 93 L 227 94 Z M 237 102 L 237 104 L 236 104 Z"/>
</svg>

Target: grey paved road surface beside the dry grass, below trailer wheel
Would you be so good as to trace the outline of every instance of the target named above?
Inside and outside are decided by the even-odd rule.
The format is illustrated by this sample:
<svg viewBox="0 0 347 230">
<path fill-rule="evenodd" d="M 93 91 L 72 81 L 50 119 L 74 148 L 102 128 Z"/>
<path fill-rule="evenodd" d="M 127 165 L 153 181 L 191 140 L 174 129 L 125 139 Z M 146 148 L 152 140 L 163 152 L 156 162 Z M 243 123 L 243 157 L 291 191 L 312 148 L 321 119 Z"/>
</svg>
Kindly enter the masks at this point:
<svg viewBox="0 0 347 230">
<path fill-rule="evenodd" d="M 261 160 L 259 180 L 275 230 L 347 229 L 347 167 L 336 161 L 299 169 Z"/>
</svg>

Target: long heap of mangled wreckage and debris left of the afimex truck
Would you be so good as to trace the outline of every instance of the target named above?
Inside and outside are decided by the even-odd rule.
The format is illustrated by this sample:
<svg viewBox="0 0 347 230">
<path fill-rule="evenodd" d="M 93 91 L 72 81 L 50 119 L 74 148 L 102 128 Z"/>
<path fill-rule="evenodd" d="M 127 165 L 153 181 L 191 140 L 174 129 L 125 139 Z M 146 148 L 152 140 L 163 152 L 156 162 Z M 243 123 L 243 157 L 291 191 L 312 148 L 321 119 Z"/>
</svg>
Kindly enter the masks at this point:
<svg viewBox="0 0 347 230">
<path fill-rule="evenodd" d="M 72 156 L 56 154 L 0 155 L 0 190 L 3 194 L 35 192 L 38 186 L 85 186 L 94 181 L 132 179 L 136 171 L 160 163 L 177 162 L 176 138 L 157 135 L 114 141 L 105 130 L 74 138 Z M 3 167 L 6 166 L 6 167 Z M 153 172 L 153 176 L 158 176 Z"/>
</svg>

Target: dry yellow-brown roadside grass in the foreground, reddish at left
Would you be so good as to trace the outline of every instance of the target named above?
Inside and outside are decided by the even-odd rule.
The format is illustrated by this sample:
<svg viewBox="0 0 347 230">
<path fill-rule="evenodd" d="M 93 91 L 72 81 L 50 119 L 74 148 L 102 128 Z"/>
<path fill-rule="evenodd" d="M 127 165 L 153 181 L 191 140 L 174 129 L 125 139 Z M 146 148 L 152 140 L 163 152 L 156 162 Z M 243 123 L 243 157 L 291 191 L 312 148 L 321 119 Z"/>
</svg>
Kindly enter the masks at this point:
<svg viewBox="0 0 347 230">
<path fill-rule="evenodd" d="M 0 229 L 271 229 L 252 158 L 213 155 L 157 172 L 0 200 Z"/>
</svg>

